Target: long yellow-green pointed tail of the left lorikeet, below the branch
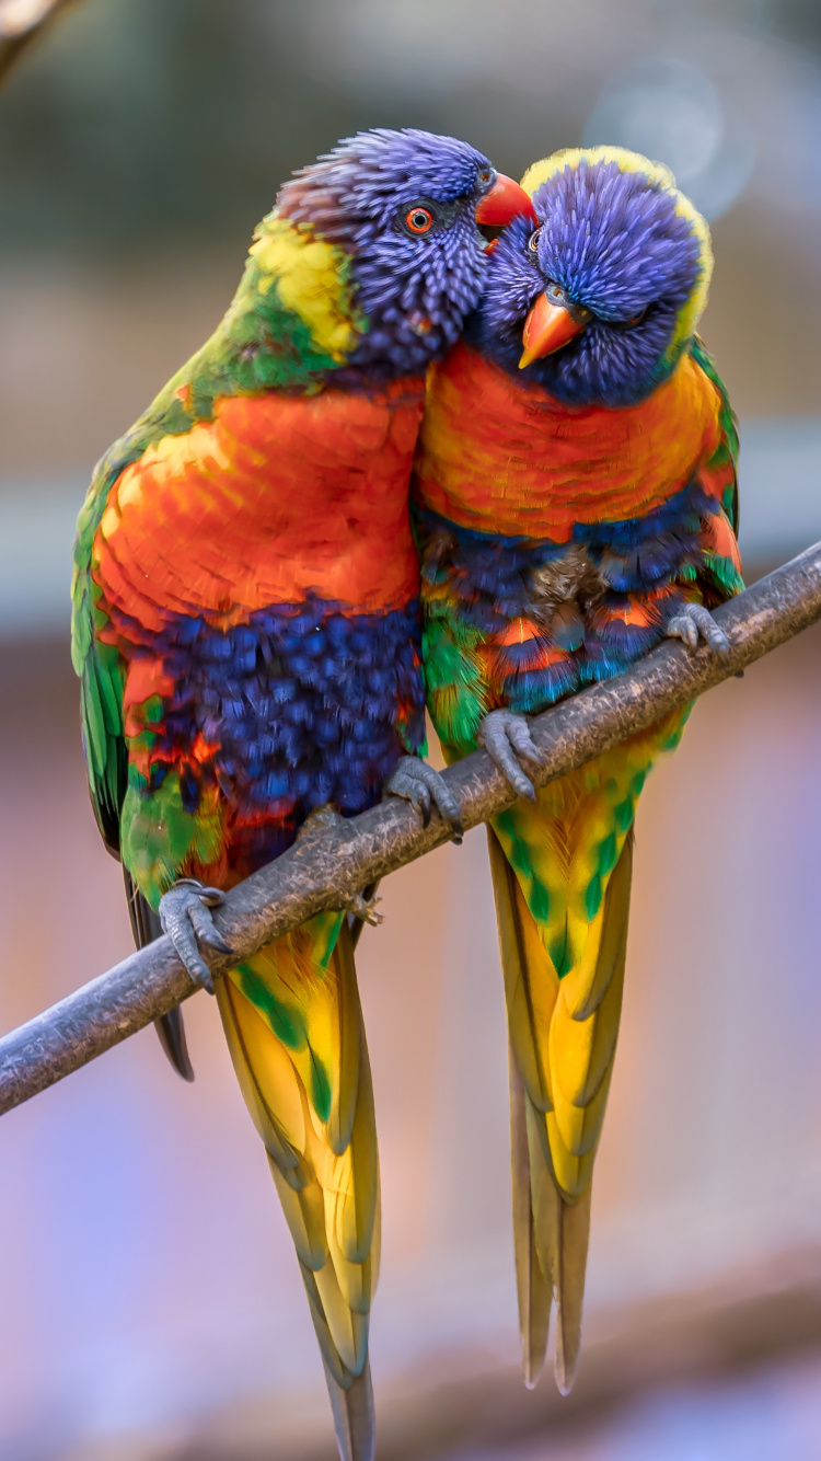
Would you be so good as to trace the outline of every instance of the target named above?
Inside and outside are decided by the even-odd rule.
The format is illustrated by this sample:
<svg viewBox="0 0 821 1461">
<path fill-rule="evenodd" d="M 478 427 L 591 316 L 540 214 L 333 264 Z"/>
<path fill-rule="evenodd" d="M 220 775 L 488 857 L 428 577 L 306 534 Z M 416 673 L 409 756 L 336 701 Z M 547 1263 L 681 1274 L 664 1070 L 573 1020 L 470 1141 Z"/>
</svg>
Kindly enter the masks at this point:
<svg viewBox="0 0 821 1461">
<path fill-rule="evenodd" d="M 380 1186 L 351 928 L 320 915 L 218 985 L 250 1115 L 297 1248 L 343 1461 L 373 1461 L 368 1319 Z"/>
</svg>

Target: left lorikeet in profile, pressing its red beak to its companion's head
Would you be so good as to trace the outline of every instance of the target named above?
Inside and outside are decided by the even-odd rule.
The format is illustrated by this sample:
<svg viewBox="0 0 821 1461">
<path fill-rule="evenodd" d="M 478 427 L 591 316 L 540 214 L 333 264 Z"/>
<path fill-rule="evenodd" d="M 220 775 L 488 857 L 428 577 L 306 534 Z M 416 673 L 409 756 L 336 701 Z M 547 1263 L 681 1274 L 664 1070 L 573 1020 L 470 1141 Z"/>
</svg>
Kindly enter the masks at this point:
<svg viewBox="0 0 821 1461">
<path fill-rule="evenodd" d="M 215 335 L 95 470 L 73 589 L 91 796 L 137 942 L 164 928 L 203 985 L 197 938 L 225 947 L 209 907 L 311 815 L 387 789 L 459 830 L 419 760 L 408 485 L 425 370 L 479 297 L 476 222 L 522 205 L 451 137 L 340 143 L 282 187 Z M 378 1163 L 355 932 L 323 913 L 216 993 L 340 1451 L 370 1458 Z M 164 1039 L 190 1077 L 178 1014 Z"/>
</svg>

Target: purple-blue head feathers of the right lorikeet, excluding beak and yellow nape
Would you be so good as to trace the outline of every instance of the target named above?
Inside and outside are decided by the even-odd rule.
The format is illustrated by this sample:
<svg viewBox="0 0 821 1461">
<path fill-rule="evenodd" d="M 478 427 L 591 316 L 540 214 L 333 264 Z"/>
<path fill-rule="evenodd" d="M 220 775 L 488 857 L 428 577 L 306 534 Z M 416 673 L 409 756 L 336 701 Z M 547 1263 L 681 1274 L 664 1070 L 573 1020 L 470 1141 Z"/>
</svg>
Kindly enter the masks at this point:
<svg viewBox="0 0 821 1461">
<path fill-rule="evenodd" d="M 633 405 L 673 370 L 679 311 L 701 278 L 701 245 L 675 194 L 616 162 L 564 167 L 533 194 L 541 221 L 501 235 L 467 337 L 517 378 L 568 405 Z M 549 283 L 593 313 L 568 345 L 519 373 L 527 311 Z M 682 348 L 687 346 L 682 340 Z"/>
</svg>

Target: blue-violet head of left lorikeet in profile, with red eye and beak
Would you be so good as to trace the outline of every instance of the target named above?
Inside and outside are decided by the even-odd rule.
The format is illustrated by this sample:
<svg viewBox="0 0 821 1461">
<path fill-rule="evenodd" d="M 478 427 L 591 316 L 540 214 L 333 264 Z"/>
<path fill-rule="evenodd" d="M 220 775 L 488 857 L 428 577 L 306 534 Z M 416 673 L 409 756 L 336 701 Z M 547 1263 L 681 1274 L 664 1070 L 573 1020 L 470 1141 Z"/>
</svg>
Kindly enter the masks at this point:
<svg viewBox="0 0 821 1461">
<path fill-rule="evenodd" d="M 413 129 L 361 131 L 304 168 L 276 215 L 351 257 L 367 320 L 348 364 L 421 374 L 453 345 L 485 282 L 478 224 L 532 215 L 529 196 L 484 153 Z"/>
</svg>

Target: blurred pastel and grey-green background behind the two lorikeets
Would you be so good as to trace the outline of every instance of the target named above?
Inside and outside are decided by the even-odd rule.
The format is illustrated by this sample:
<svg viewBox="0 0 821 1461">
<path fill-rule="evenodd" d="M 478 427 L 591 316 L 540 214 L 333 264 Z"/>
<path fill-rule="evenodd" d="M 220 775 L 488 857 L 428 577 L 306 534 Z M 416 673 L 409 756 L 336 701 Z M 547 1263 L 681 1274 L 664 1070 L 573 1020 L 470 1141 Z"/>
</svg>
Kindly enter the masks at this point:
<svg viewBox="0 0 821 1461">
<path fill-rule="evenodd" d="M 0 0 L 13 22 L 31 0 Z M 67 650 L 93 462 L 205 339 L 278 183 L 422 126 L 520 174 L 615 142 L 714 228 L 748 577 L 821 536 L 817 0 L 86 0 L 0 94 L 0 1023 L 130 948 Z M 380 1455 L 821 1455 L 821 633 L 698 706 L 638 815 L 571 1400 L 519 1378 L 481 831 L 393 877 L 361 983 L 384 1175 Z M 224 1049 L 150 1031 L 0 1124 L 4 1461 L 330 1461 L 285 1224 Z"/>
</svg>

